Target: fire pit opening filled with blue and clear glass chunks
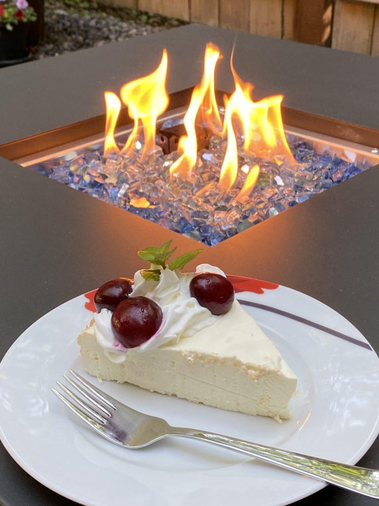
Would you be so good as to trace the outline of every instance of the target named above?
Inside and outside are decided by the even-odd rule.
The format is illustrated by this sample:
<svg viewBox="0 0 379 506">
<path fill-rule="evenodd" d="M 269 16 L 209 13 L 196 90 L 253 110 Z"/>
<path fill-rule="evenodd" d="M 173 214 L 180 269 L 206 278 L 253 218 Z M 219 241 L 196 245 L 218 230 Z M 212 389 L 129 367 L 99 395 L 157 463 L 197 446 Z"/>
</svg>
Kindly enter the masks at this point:
<svg viewBox="0 0 379 506">
<path fill-rule="evenodd" d="M 224 109 L 220 107 L 221 115 Z M 103 155 L 104 139 L 96 136 L 18 160 L 25 167 L 105 202 L 117 205 L 158 225 L 208 245 L 215 245 L 308 200 L 372 165 L 379 163 L 375 149 L 349 141 L 285 126 L 296 165 L 286 160 L 263 160 L 241 153 L 237 137 L 239 171 L 225 192 L 219 176 L 225 141 L 206 125 L 197 125 L 198 162 L 189 177 L 172 181 L 169 170 L 179 154 L 184 107 L 163 115 L 157 126 L 157 151 L 139 163 L 143 149 L 135 143 L 129 156 Z M 126 125 L 115 133 L 121 146 L 130 132 Z M 259 174 L 252 189 L 248 175 Z"/>
</svg>

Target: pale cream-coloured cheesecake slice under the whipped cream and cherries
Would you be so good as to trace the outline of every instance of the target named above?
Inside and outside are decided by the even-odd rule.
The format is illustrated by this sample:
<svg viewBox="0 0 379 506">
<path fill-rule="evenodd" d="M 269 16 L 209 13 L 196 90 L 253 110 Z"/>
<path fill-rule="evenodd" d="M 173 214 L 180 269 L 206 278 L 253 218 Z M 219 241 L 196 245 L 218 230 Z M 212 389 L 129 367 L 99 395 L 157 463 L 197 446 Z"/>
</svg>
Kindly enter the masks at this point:
<svg viewBox="0 0 379 506">
<path fill-rule="evenodd" d="M 211 326 L 176 344 L 129 349 L 121 363 L 98 344 L 93 320 L 78 343 L 84 369 L 99 379 L 277 420 L 291 416 L 297 378 L 237 301 Z"/>
</svg>

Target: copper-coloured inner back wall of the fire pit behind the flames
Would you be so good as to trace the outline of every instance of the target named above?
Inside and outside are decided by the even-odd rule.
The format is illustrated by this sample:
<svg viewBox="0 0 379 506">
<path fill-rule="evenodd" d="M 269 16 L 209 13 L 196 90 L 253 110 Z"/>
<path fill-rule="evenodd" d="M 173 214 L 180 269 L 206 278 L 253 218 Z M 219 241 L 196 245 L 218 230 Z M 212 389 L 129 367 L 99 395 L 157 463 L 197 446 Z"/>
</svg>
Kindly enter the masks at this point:
<svg viewBox="0 0 379 506">
<path fill-rule="evenodd" d="M 187 88 L 170 95 L 168 110 L 182 107 L 189 103 L 193 88 Z M 222 103 L 224 93 L 217 91 L 216 98 Z M 365 126 L 346 123 L 337 119 L 318 116 L 287 107 L 282 108 L 283 122 L 317 134 L 323 134 L 369 147 L 379 147 L 379 132 Z M 131 122 L 126 108 L 121 110 L 118 125 Z M 86 119 L 77 123 L 62 126 L 59 129 L 42 132 L 31 137 L 19 139 L 0 145 L 0 156 L 16 160 L 34 153 L 69 144 L 80 139 L 104 132 L 105 114 Z"/>
</svg>

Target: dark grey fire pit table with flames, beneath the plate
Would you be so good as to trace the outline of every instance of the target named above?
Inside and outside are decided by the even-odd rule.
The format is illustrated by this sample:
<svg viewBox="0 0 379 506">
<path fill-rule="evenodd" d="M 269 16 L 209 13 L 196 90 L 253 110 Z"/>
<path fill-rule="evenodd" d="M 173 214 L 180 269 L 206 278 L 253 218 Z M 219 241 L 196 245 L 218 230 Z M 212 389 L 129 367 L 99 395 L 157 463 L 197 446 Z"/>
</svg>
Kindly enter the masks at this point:
<svg viewBox="0 0 379 506">
<path fill-rule="evenodd" d="M 244 144 L 243 128 L 236 137 L 221 132 L 236 88 L 229 64 L 234 39 L 228 30 L 188 25 L 1 71 L 2 354 L 42 314 L 129 275 L 139 267 L 136 249 L 168 239 L 182 250 L 202 243 L 204 262 L 230 274 L 309 294 L 379 346 L 377 60 L 238 34 L 235 82 L 242 89 L 254 84 L 255 120 L 259 104 L 267 107 L 265 120 L 271 114 L 265 97 L 284 96 L 283 125 L 278 109 L 271 125 L 275 149 L 259 121 L 253 149 Z M 190 137 L 185 117 L 209 41 L 224 56 L 214 89 L 219 128 L 197 121 L 194 166 L 185 178 L 165 179 L 164 170 L 177 166 L 183 152 L 188 156 L 180 152 L 180 137 Z M 157 123 L 160 151 L 140 162 L 144 139 L 136 137 L 131 151 L 120 154 L 135 115 L 109 108 L 108 127 L 118 116 L 118 130 L 108 128 L 112 149 L 104 155 L 103 92 L 114 92 L 117 109 L 120 87 L 164 65 L 164 48 L 170 105 Z M 236 107 L 230 115 L 241 119 L 242 111 Z M 227 159 L 233 143 L 234 159 Z M 131 167 L 139 185 L 127 179 Z M 231 167 L 226 176 L 224 167 Z M 375 442 L 360 465 L 379 468 L 377 449 Z M 0 502 L 70 503 L 1 451 Z M 355 505 L 362 499 L 328 487 L 304 504 L 320 500 Z"/>
</svg>

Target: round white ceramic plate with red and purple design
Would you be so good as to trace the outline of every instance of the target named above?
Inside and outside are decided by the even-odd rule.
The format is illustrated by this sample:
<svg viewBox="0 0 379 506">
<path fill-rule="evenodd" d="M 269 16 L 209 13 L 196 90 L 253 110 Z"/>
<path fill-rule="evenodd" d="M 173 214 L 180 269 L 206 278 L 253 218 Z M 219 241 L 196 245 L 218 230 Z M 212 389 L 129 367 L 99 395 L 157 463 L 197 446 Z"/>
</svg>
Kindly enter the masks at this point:
<svg viewBox="0 0 379 506">
<path fill-rule="evenodd" d="M 232 281 L 240 300 L 294 313 L 352 338 L 349 342 L 344 335 L 245 305 L 299 377 L 291 420 L 278 424 L 131 385 L 105 382 L 101 388 L 174 426 L 357 462 L 378 434 L 375 352 L 345 318 L 302 293 L 249 278 L 232 277 Z M 144 449 L 123 449 L 70 416 L 50 389 L 70 367 L 97 382 L 84 373 L 76 344 L 77 334 L 91 318 L 85 301 L 79 296 L 40 318 L 0 364 L 1 440 L 32 477 L 90 506 L 250 506 L 252 500 L 255 506 L 278 506 L 324 486 L 191 440 L 171 438 Z"/>
</svg>

